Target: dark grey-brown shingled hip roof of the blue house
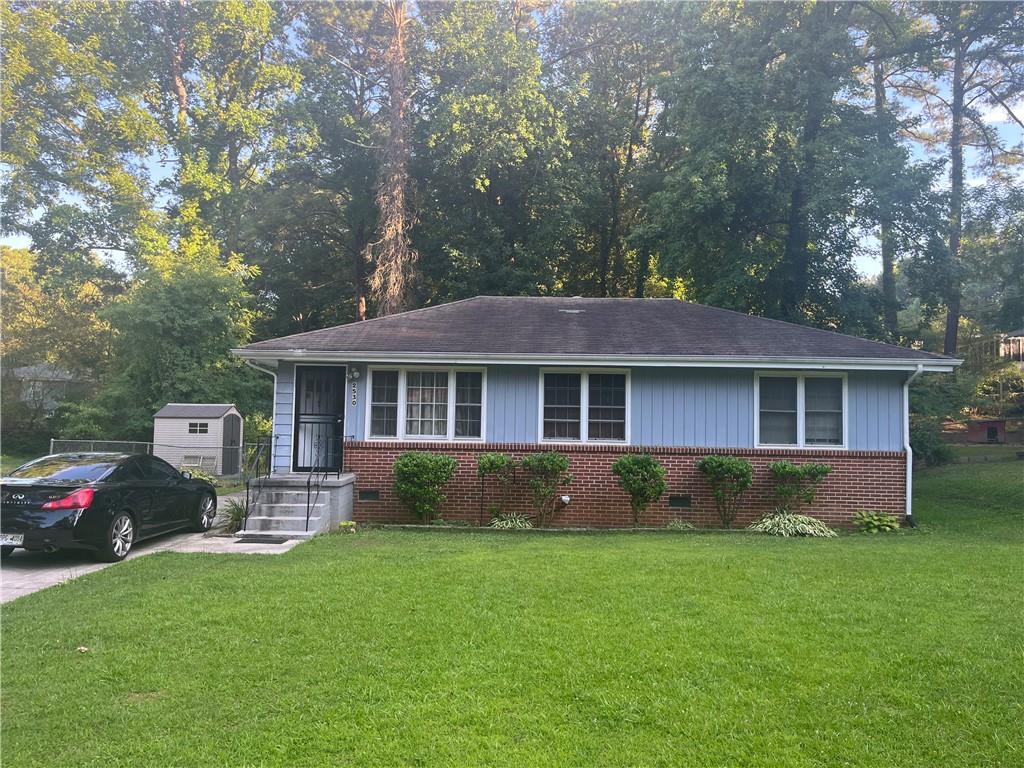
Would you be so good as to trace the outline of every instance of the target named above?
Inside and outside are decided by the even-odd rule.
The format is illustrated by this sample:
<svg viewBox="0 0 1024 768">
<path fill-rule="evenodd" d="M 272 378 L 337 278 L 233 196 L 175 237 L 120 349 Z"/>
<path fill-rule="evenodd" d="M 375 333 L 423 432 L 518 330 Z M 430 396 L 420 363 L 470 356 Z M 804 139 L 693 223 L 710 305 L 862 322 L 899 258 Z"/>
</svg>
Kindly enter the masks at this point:
<svg viewBox="0 0 1024 768">
<path fill-rule="evenodd" d="M 246 352 L 864 358 L 940 354 L 675 299 L 477 296 L 250 344 Z"/>
</svg>

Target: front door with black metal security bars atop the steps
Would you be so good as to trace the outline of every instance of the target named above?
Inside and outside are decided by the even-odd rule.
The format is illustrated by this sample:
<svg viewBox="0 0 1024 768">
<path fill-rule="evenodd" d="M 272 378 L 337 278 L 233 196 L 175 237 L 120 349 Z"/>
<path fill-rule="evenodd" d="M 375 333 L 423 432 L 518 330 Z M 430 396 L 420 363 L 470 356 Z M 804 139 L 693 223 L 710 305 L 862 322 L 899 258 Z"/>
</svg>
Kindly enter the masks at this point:
<svg viewBox="0 0 1024 768">
<path fill-rule="evenodd" d="M 345 367 L 296 366 L 296 472 L 341 469 L 341 436 L 345 427 Z"/>
</svg>

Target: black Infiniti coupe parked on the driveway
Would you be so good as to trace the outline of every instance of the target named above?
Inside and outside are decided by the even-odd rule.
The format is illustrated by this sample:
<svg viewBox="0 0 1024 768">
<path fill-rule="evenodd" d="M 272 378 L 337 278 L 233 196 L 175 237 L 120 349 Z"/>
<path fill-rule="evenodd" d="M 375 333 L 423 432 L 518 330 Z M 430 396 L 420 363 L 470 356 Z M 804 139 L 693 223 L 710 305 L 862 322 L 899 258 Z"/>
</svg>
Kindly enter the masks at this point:
<svg viewBox="0 0 1024 768">
<path fill-rule="evenodd" d="M 209 530 L 217 494 L 154 456 L 54 454 L 0 479 L 0 554 L 86 549 L 109 562 L 159 534 Z"/>
</svg>

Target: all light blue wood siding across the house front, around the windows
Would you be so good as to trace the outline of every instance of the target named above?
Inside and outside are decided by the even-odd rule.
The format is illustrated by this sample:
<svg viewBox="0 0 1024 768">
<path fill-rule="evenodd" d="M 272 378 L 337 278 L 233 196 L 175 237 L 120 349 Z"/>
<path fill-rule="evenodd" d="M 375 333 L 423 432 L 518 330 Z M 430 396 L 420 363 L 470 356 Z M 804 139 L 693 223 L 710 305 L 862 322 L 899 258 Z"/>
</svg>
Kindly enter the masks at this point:
<svg viewBox="0 0 1024 768">
<path fill-rule="evenodd" d="M 345 436 L 362 439 L 367 367 L 346 383 Z M 847 424 L 853 451 L 901 451 L 903 382 L 899 372 L 851 372 Z M 275 393 L 274 468 L 291 462 L 295 366 L 281 362 Z M 634 445 L 753 447 L 754 371 L 742 369 L 635 368 L 631 372 L 630 433 Z M 540 369 L 489 366 L 486 380 L 486 440 L 537 442 Z"/>
</svg>

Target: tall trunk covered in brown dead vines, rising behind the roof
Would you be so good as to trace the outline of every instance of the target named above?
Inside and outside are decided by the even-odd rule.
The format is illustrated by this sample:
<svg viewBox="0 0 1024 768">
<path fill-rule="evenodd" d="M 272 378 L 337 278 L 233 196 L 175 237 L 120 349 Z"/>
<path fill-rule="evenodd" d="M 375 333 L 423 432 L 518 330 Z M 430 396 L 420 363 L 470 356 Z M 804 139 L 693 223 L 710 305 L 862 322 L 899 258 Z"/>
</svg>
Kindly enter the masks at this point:
<svg viewBox="0 0 1024 768">
<path fill-rule="evenodd" d="M 380 314 L 406 308 L 409 283 L 416 251 L 409 240 L 411 220 L 406 197 L 409 184 L 409 87 L 406 54 L 406 26 L 409 23 L 404 0 L 388 0 L 384 14 L 390 39 L 384 54 L 388 85 L 388 135 L 381 162 L 377 191 L 380 238 L 367 251 L 374 256 L 376 269 L 370 289 Z"/>
</svg>

